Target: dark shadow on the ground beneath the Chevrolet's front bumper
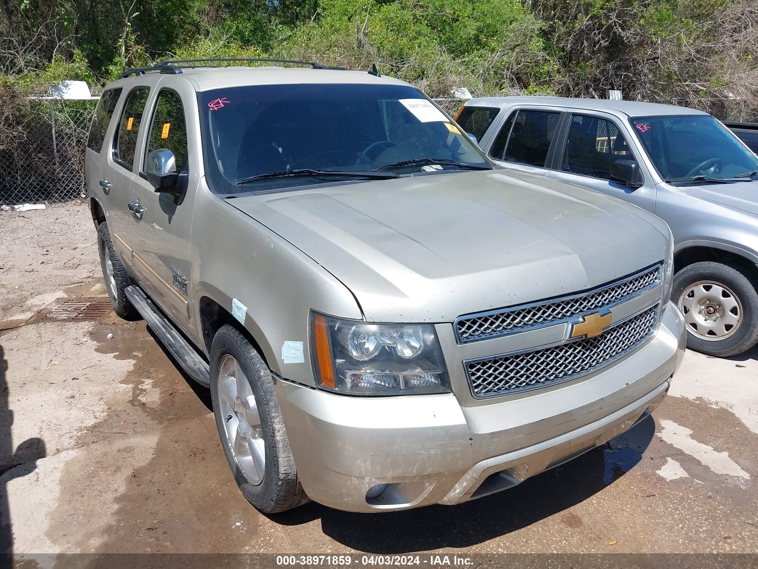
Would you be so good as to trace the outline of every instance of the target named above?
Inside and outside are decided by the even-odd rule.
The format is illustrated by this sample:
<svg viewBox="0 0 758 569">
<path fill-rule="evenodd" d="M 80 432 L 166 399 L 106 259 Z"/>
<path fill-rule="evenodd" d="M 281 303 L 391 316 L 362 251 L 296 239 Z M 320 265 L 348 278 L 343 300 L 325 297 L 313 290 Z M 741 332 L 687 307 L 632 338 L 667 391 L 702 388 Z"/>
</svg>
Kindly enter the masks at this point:
<svg viewBox="0 0 758 569">
<path fill-rule="evenodd" d="M 320 519 L 327 536 L 362 552 L 394 554 L 468 547 L 527 527 L 600 492 L 641 460 L 654 433 L 655 423 L 648 417 L 608 444 L 520 486 L 458 506 L 372 515 L 311 502 L 270 518 L 283 525 Z M 570 517 L 567 523 L 581 525 L 581 520 Z"/>
</svg>

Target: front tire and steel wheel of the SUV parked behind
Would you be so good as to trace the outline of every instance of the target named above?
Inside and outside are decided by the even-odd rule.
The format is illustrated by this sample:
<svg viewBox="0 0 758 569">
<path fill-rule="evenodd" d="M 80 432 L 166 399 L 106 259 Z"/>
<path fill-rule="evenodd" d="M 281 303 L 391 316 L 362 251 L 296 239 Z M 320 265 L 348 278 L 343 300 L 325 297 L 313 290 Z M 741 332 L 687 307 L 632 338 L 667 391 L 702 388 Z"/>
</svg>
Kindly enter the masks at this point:
<svg viewBox="0 0 758 569">
<path fill-rule="evenodd" d="M 672 300 L 684 314 L 687 347 L 728 357 L 758 343 L 758 291 L 739 266 L 696 262 L 674 276 Z"/>
</svg>

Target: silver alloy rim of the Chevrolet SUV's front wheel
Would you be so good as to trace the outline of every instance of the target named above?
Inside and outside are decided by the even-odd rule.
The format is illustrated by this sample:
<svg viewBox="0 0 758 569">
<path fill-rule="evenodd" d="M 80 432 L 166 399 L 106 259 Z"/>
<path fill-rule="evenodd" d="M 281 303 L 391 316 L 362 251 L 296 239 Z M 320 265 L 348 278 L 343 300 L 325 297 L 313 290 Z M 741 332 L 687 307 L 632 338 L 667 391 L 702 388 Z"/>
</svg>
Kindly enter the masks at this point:
<svg viewBox="0 0 758 569">
<path fill-rule="evenodd" d="M 250 382 L 230 354 L 221 358 L 216 385 L 229 448 L 248 482 L 258 486 L 266 465 L 261 417 Z"/>
</svg>

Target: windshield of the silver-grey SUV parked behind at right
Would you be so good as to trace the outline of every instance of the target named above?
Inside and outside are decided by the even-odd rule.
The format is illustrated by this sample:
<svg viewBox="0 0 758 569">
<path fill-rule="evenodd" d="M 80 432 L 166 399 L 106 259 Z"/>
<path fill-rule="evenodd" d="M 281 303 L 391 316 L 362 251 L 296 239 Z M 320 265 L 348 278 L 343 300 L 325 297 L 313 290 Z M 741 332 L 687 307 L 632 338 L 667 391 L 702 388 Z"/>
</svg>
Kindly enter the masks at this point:
<svg viewBox="0 0 758 569">
<path fill-rule="evenodd" d="M 664 180 L 685 182 L 682 178 L 708 183 L 707 178 L 723 180 L 758 170 L 758 157 L 747 150 L 734 134 L 706 115 L 630 118 L 637 133 Z"/>
</svg>

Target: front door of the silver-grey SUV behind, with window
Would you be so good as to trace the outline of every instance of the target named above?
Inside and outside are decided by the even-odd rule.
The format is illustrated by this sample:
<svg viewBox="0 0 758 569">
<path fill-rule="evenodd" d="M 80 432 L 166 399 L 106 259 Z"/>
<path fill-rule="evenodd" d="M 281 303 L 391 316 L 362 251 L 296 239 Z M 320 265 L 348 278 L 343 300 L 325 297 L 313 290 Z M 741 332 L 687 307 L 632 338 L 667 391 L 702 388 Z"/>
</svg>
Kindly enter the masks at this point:
<svg viewBox="0 0 758 569">
<path fill-rule="evenodd" d="M 550 178 L 588 187 L 653 212 L 656 190 L 644 163 L 640 162 L 645 179 L 642 187 L 635 189 L 611 177 L 613 162 L 637 161 L 640 156 L 618 119 L 590 111 L 572 111 L 567 116 Z"/>
</svg>

